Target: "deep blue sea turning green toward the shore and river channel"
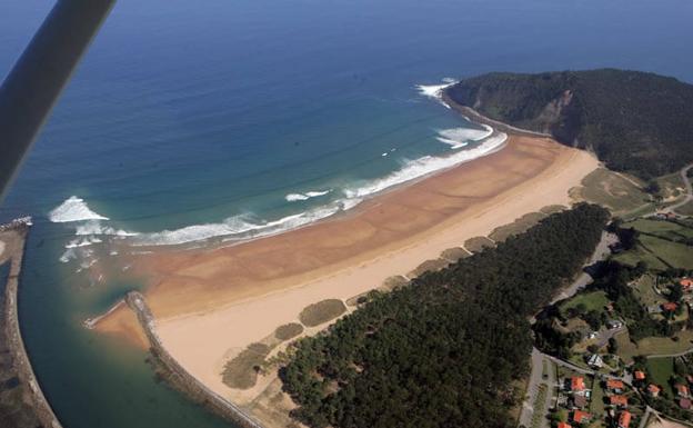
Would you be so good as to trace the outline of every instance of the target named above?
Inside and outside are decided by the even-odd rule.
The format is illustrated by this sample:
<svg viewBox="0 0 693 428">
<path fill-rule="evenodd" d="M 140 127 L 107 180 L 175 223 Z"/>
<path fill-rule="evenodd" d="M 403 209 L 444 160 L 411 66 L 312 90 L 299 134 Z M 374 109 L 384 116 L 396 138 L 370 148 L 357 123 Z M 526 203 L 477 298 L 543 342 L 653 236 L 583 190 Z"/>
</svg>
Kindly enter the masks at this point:
<svg viewBox="0 0 693 428">
<path fill-rule="evenodd" d="M 50 7 L 2 1 L 0 77 Z M 132 245 L 275 231 L 475 147 L 439 140 L 473 126 L 418 84 L 596 67 L 693 82 L 691 18 L 684 0 L 119 1 L 0 207 L 34 217 L 20 316 L 63 425 L 225 426 L 157 384 L 143 352 L 81 327 L 139 287 L 78 272 L 118 230 Z M 89 211 L 72 199 L 53 220 L 93 219 L 50 221 L 72 196 Z"/>
</svg>

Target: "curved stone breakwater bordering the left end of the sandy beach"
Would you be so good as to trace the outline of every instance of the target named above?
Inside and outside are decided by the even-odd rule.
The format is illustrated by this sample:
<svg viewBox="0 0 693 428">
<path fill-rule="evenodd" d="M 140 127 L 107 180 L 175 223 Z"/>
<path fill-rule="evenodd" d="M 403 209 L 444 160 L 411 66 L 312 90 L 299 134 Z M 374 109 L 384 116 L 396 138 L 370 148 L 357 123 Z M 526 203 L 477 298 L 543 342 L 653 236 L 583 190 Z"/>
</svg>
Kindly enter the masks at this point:
<svg viewBox="0 0 693 428">
<path fill-rule="evenodd" d="M 200 402 L 221 417 L 232 420 L 243 428 L 263 428 L 258 421 L 250 417 L 243 409 L 212 391 L 194 376 L 190 375 L 163 347 L 157 334 L 154 317 L 144 301 L 144 296 L 138 291 L 130 291 L 125 296 L 125 303 L 137 315 L 140 326 L 144 330 L 151 352 L 154 358 L 163 365 L 168 371 L 169 381 L 182 389 L 194 401 Z"/>
</svg>

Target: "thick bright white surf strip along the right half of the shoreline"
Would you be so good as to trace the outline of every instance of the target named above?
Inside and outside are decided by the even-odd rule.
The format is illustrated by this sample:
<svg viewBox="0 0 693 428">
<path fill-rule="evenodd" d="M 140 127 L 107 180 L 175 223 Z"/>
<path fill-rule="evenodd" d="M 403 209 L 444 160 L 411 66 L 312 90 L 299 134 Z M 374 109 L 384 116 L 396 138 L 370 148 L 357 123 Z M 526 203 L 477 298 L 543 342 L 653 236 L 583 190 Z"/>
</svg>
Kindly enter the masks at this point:
<svg viewBox="0 0 693 428">
<path fill-rule="evenodd" d="M 472 159 L 481 158 L 501 148 L 506 138 L 508 136 L 505 133 L 498 133 L 493 137 L 486 138 L 482 143 L 473 149 L 456 151 L 446 157 L 424 156 L 423 158 L 408 161 L 398 171 L 394 171 L 384 178 L 373 180 L 360 188 L 346 189 L 344 190 L 344 195 L 346 195 L 348 198 L 363 198 L 385 190 L 392 186 L 398 186 L 403 182 L 428 176 L 432 172 L 451 168 Z"/>
</svg>

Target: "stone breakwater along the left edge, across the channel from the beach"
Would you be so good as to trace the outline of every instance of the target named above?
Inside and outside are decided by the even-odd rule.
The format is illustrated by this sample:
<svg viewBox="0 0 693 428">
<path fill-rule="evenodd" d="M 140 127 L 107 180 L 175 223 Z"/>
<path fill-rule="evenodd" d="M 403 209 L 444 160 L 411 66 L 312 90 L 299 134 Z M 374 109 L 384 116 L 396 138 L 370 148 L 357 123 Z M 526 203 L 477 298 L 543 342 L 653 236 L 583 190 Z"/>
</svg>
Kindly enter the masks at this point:
<svg viewBox="0 0 693 428">
<path fill-rule="evenodd" d="M 19 327 L 19 313 L 17 308 L 17 292 L 19 289 L 19 278 L 24 255 L 24 242 L 31 226 L 31 218 L 24 217 L 7 225 L 0 225 L 0 240 L 6 245 L 2 259 L 10 262 L 10 271 L 4 288 L 4 308 L 2 339 L 7 341 L 7 347 L 11 354 L 11 370 L 17 372 L 20 385 L 26 394 L 24 399 L 29 401 L 37 419 L 43 427 L 62 428 L 56 417 L 43 391 L 39 386 L 33 368 L 24 348 Z M 3 260 L 0 259 L 0 262 Z"/>
</svg>

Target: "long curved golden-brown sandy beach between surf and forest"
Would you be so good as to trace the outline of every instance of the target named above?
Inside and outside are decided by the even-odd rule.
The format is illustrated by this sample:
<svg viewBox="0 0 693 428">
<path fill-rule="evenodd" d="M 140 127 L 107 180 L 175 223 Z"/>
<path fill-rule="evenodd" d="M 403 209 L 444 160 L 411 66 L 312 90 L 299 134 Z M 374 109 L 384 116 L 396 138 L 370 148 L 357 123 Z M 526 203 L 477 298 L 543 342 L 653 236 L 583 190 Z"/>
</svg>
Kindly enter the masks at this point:
<svg viewBox="0 0 693 428">
<path fill-rule="evenodd" d="M 524 213 L 569 206 L 569 190 L 597 166 L 551 139 L 510 136 L 495 153 L 341 218 L 228 248 L 155 252 L 133 260 L 133 269 L 150 281 L 145 296 L 171 355 L 215 392 L 248 405 L 267 382 L 238 390 L 221 379 L 245 346 L 295 321 L 308 305 L 346 300 Z M 97 329 L 147 346 L 123 307 Z"/>
</svg>

